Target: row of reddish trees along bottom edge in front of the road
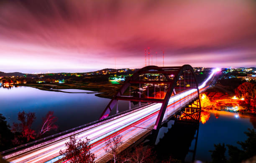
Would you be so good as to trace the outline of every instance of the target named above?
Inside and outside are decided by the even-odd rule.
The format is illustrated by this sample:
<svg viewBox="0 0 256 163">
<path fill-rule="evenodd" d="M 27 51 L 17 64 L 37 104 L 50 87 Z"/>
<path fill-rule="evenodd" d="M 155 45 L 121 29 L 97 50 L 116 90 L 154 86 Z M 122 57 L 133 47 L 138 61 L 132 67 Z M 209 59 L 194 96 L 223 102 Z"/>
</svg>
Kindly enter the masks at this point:
<svg viewBox="0 0 256 163">
<path fill-rule="evenodd" d="M 69 160 L 71 163 L 94 163 L 95 155 L 90 152 L 92 146 L 89 139 L 79 140 L 71 136 L 65 143 L 66 150 L 60 150 L 59 154 L 64 157 L 61 161 Z M 123 136 L 116 134 L 105 140 L 104 150 L 108 153 L 108 163 L 182 163 L 181 160 L 169 157 L 168 159 L 158 158 L 156 149 L 151 145 L 142 143 L 133 148 L 123 150 Z M 122 151 L 123 150 L 123 151 Z"/>
</svg>

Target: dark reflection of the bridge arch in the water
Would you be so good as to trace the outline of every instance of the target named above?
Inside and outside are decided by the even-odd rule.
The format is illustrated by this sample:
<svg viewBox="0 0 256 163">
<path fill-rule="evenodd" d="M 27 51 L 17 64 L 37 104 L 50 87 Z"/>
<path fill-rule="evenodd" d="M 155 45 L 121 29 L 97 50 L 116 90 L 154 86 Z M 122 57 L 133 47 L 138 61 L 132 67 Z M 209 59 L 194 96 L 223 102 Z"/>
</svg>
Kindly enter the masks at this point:
<svg viewBox="0 0 256 163">
<path fill-rule="evenodd" d="M 188 162 L 195 159 L 199 130 L 200 112 L 185 109 L 179 118 L 168 128 L 164 137 L 156 145 L 158 157 L 168 160 L 169 157 Z M 188 156 L 189 155 L 189 156 Z"/>
</svg>

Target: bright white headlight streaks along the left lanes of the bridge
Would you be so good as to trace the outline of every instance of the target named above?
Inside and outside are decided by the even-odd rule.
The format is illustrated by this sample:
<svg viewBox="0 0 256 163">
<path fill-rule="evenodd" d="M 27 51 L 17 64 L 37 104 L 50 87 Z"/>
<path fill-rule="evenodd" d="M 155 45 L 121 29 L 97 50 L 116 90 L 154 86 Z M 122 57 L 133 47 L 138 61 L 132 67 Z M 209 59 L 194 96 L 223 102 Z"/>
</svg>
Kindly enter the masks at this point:
<svg viewBox="0 0 256 163">
<path fill-rule="evenodd" d="M 202 83 L 202 85 L 199 86 L 199 89 L 204 88 L 206 83 L 212 78 L 214 73 L 216 73 L 217 71 L 218 71 L 218 69 L 213 70 L 212 73 L 209 75 L 209 77 Z M 195 92 L 197 92 L 197 89 L 191 89 L 191 90 L 185 91 L 184 93 L 172 96 L 169 99 L 168 106 L 173 104 L 173 103 L 175 103 L 173 105 L 177 105 L 176 102 L 178 102 L 179 100 L 183 99 L 184 97 L 186 97 L 186 99 L 187 99 L 188 95 L 191 95 L 192 93 L 195 93 Z M 192 98 L 193 97 L 195 97 L 195 94 L 192 95 Z M 188 99 L 191 99 L 191 98 L 188 98 Z M 184 100 L 179 101 L 179 103 L 184 103 Z M 138 111 L 136 111 L 134 113 L 131 113 L 129 115 L 125 115 L 125 116 L 123 116 L 121 118 L 112 120 L 112 121 L 110 121 L 108 123 L 105 123 L 103 125 L 96 126 L 95 128 L 86 130 L 86 131 L 80 133 L 79 135 L 77 135 L 77 138 L 78 139 L 84 139 L 85 136 L 87 136 L 87 138 L 92 139 L 90 141 L 91 144 L 95 143 L 95 142 L 97 142 L 97 141 L 99 141 L 99 140 L 101 140 L 101 139 L 103 139 L 103 138 L 105 138 L 105 137 L 107 137 L 107 136 L 109 136 L 109 135 L 119 131 L 119 130 L 122 130 L 123 128 L 125 128 L 125 127 L 127 127 L 127 126 L 129 126 L 129 125 L 131 125 L 131 124 L 133 124 L 133 123 L 135 123 L 137 121 L 139 121 L 139 120 L 142 120 L 143 118 L 146 118 L 147 116 L 149 116 L 149 115 L 151 115 L 153 113 L 156 113 L 157 111 L 160 110 L 160 108 L 161 108 L 161 103 L 157 103 L 155 105 L 151 105 L 148 108 L 144 108 L 142 110 L 138 110 Z M 172 108 L 173 108 L 173 106 L 170 106 L 166 110 L 168 112 L 169 111 L 172 112 L 173 110 L 170 110 Z M 175 108 L 175 110 L 177 110 L 177 108 Z M 108 131 L 110 131 L 110 132 L 108 132 Z M 61 150 L 65 149 L 64 144 L 68 141 L 68 139 L 69 138 L 66 138 L 64 140 L 61 140 L 61 142 L 59 142 L 59 143 L 56 143 L 56 144 L 51 145 L 49 147 L 46 147 L 44 149 L 38 150 L 38 151 L 33 152 L 31 154 L 28 154 L 26 156 L 23 156 L 22 158 L 18 158 L 16 160 L 13 160 L 11 163 L 19 163 L 20 161 L 23 161 L 23 160 L 26 160 L 26 159 L 31 158 L 33 156 L 36 156 L 34 158 L 31 158 L 32 159 L 31 161 L 27 162 L 27 163 L 35 163 L 38 160 L 42 160 L 44 158 L 49 157 L 50 155 L 54 155 L 56 153 L 59 153 L 60 149 Z M 54 149 L 54 148 L 56 148 L 56 149 Z M 53 151 L 49 151 L 49 150 L 53 150 Z M 46 151 L 49 151 L 49 152 L 44 153 Z M 37 156 L 40 153 L 44 153 L 43 156 Z M 59 155 L 56 158 L 53 158 L 53 159 L 47 161 L 46 163 L 53 163 L 56 160 L 61 159 L 62 157 L 63 156 Z"/>
</svg>

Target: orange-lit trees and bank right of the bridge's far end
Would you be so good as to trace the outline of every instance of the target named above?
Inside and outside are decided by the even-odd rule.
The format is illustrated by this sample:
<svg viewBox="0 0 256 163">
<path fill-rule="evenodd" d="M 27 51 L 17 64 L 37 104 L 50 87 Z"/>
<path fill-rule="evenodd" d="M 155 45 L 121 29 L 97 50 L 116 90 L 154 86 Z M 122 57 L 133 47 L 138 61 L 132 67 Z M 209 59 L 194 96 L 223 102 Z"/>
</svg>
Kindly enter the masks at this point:
<svg viewBox="0 0 256 163">
<path fill-rule="evenodd" d="M 241 112 L 256 111 L 256 82 L 253 80 L 248 82 L 236 78 L 220 79 L 206 90 L 205 95 L 210 100 L 205 104 L 206 108 L 229 107 Z"/>
</svg>

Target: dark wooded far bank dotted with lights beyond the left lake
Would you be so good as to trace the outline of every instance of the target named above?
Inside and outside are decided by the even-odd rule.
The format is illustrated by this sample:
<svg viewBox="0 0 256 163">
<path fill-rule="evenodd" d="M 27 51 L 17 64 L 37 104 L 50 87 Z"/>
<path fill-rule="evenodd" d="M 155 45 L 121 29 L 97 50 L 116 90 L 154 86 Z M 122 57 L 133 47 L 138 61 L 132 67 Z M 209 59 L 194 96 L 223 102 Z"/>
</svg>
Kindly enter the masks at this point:
<svg viewBox="0 0 256 163">
<path fill-rule="evenodd" d="M 98 92 L 99 97 L 112 98 L 122 86 L 124 80 L 136 70 L 99 70 L 90 73 L 49 73 L 49 74 L 26 74 L 21 77 L 3 77 L 0 83 L 12 83 L 15 86 L 28 86 L 40 90 L 66 92 L 65 89 L 81 89 Z M 198 83 L 207 76 L 209 70 L 204 73 L 196 73 Z M 122 78 L 118 82 L 110 79 Z M 59 83 L 59 81 L 64 81 Z M 39 83 L 40 82 L 40 83 Z M 9 86 L 11 86 L 9 85 Z M 7 85 L 6 85 L 7 86 Z M 8 87 L 6 87 L 8 88 Z M 132 87 L 132 91 L 137 88 Z M 69 92 L 66 92 L 69 93 Z"/>
</svg>

